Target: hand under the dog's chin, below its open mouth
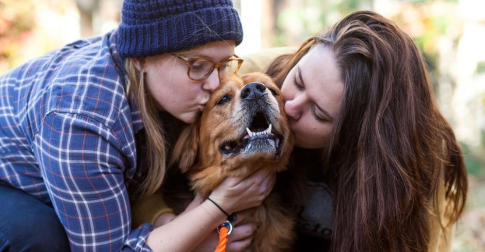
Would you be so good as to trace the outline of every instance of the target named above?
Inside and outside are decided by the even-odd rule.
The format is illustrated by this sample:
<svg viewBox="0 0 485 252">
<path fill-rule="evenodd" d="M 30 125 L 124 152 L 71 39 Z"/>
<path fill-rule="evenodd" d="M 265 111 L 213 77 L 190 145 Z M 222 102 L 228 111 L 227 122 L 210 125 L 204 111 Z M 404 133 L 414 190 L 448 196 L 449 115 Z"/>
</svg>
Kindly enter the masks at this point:
<svg viewBox="0 0 485 252">
<path fill-rule="evenodd" d="M 215 188 L 209 198 L 232 214 L 261 205 L 275 186 L 276 173 L 258 169 L 247 177 L 228 177 Z"/>
</svg>

